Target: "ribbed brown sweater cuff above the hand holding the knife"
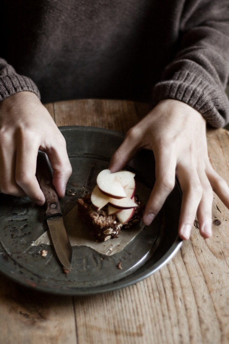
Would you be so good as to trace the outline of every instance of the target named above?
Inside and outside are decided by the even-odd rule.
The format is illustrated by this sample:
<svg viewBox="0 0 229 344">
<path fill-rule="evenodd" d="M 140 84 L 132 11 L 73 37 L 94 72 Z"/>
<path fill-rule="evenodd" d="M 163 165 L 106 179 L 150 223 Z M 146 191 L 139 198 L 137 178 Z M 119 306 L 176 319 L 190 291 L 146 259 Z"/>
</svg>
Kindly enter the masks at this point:
<svg viewBox="0 0 229 344">
<path fill-rule="evenodd" d="M 0 76 L 0 101 L 22 91 L 33 92 L 40 99 L 40 92 L 30 78 L 19 74 Z"/>
</svg>

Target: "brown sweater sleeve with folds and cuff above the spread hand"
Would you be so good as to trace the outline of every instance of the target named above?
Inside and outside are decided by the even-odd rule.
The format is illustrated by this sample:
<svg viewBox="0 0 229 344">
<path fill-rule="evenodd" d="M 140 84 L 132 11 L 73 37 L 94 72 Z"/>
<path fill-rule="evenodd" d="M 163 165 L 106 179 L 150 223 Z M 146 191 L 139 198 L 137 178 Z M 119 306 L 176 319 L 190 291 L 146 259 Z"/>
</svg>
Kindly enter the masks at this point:
<svg viewBox="0 0 229 344">
<path fill-rule="evenodd" d="M 154 103 L 177 99 L 213 127 L 229 121 L 229 1 L 187 0 L 174 60 L 153 89 Z"/>
</svg>

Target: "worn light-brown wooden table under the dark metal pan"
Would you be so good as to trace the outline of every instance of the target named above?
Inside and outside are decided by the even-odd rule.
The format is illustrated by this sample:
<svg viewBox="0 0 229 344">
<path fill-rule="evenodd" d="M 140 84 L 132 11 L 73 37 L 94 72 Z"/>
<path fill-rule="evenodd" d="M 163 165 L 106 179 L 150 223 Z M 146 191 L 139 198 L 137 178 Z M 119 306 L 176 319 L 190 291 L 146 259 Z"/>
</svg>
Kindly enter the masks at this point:
<svg viewBox="0 0 229 344">
<path fill-rule="evenodd" d="M 77 100 L 46 105 L 58 126 L 126 132 L 147 105 Z M 229 183 L 229 133 L 208 131 L 209 156 Z M 25 289 L 0 275 L 0 343 L 229 343 L 229 211 L 214 198 L 213 235 L 194 228 L 162 269 L 131 287 L 65 297 Z"/>
</svg>

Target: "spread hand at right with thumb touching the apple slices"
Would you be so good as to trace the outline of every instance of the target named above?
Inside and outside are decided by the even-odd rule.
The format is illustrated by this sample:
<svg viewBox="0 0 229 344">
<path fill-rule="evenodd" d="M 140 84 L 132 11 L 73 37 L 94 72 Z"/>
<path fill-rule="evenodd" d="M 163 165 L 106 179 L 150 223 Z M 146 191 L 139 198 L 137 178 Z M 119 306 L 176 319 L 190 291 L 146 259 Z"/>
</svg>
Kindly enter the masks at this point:
<svg viewBox="0 0 229 344">
<path fill-rule="evenodd" d="M 211 236 L 212 190 L 229 208 L 229 188 L 210 165 L 206 121 L 190 106 L 173 99 L 160 101 L 131 128 L 114 153 L 111 172 L 121 170 L 141 149 L 155 157 L 156 181 L 146 204 L 143 221 L 149 225 L 175 185 L 177 176 L 183 197 L 178 234 L 188 239 L 195 217 L 202 237 Z"/>
</svg>

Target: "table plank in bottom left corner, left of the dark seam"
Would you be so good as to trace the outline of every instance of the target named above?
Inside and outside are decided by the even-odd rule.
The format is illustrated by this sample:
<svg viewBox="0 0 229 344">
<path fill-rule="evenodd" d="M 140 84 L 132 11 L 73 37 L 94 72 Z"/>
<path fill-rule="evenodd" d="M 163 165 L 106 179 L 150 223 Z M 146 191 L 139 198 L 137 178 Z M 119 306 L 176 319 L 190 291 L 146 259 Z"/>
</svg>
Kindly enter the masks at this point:
<svg viewBox="0 0 229 344">
<path fill-rule="evenodd" d="M 0 343 L 76 343 L 72 298 L 39 293 L 1 276 Z"/>
</svg>

